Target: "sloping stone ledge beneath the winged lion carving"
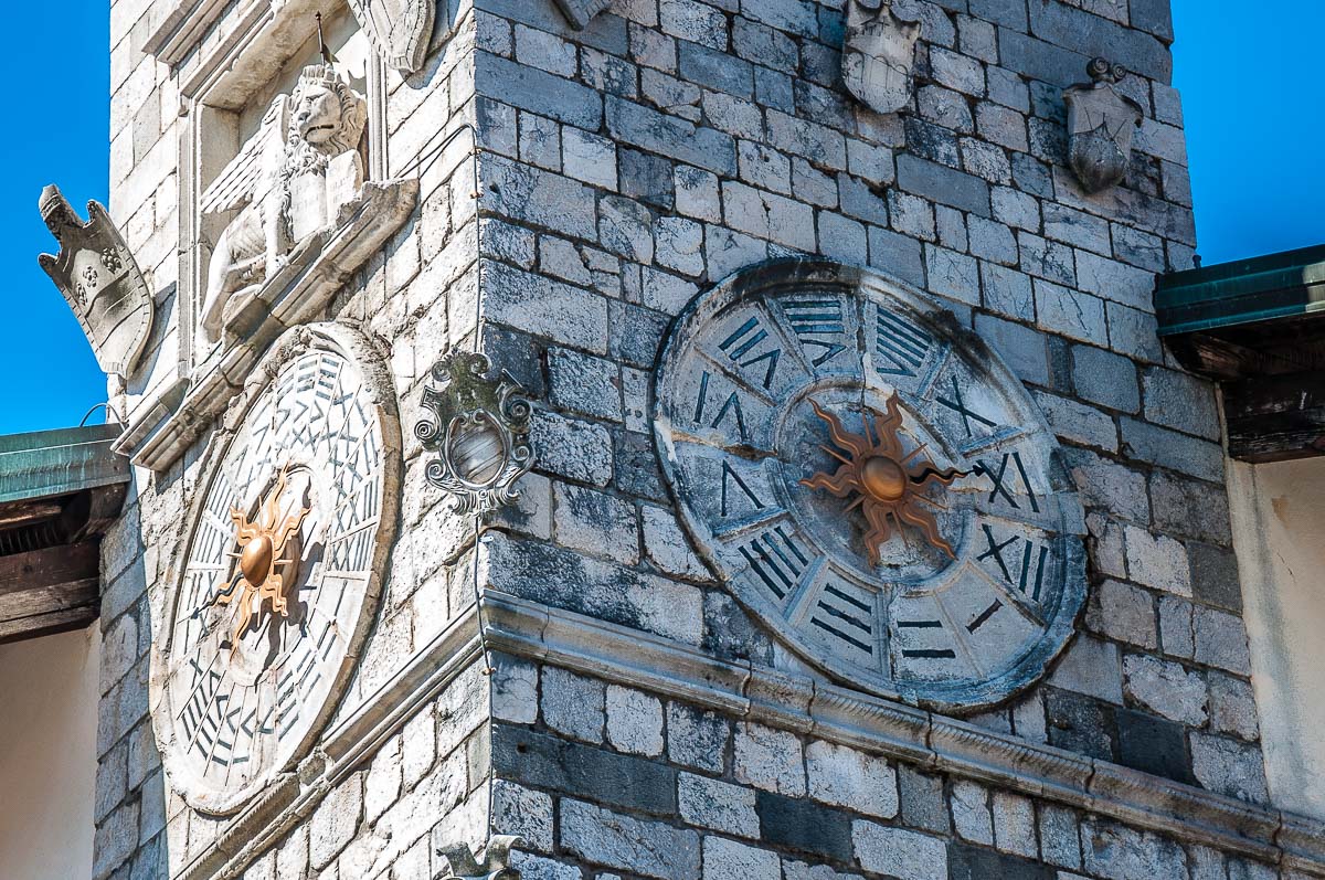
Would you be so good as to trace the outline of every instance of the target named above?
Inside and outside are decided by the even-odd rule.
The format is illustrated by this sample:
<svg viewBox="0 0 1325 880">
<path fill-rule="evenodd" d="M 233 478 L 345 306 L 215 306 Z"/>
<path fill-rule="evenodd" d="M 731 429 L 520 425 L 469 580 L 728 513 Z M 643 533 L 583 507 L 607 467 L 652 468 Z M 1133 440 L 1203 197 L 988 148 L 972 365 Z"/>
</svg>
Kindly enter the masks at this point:
<svg viewBox="0 0 1325 880">
<path fill-rule="evenodd" d="M 400 228 L 419 200 L 419 180 L 363 184 L 363 193 L 337 227 L 309 236 L 289 262 L 236 314 L 227 313 L 227 339 L 192 378 L 143 402 L 115 452 L 135 465 L 164 470 L 212 424 L 240 391 L 244 376 L 286 329 L 317 318 L 346 280 Z M 232 327 L 242 335 L 235 338 Z"/>
</svg>

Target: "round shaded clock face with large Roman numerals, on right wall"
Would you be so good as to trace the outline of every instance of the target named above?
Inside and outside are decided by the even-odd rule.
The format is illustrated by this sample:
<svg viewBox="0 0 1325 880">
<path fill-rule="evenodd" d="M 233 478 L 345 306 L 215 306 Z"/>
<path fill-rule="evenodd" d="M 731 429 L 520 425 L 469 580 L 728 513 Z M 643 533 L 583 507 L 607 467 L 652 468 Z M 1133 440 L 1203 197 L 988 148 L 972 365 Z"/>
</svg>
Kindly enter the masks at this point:
<svg viewBox="0 0 1325 880">
<path fill-rule="evenodd" d="M 661 357 L 655 436 L 709 563 L 851 687 L 987 706 L 1072 635 L 1084 516 L 1057 440 L 900 282 L 803 260 L 700 297 Z"/>
</svg>

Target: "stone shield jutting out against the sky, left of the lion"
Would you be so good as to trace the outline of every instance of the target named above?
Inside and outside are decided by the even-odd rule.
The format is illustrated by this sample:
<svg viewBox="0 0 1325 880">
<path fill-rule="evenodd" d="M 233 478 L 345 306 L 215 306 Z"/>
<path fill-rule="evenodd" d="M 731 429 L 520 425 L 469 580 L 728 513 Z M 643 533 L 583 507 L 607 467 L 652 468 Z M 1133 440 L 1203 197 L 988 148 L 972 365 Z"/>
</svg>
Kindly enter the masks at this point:
<svg viewBox="0 0 1325 880">
<path fill-rule="evenodd" d="M 152 331 L 155 311 L 138 261 L 98 203 L 87 203 L 83 223 L 52 184 L 41 191 L 38 207 L 60 254 L 42 253 L 37 261 L 78 317 L 101 368 L 129 378 Z"/>
</svg>

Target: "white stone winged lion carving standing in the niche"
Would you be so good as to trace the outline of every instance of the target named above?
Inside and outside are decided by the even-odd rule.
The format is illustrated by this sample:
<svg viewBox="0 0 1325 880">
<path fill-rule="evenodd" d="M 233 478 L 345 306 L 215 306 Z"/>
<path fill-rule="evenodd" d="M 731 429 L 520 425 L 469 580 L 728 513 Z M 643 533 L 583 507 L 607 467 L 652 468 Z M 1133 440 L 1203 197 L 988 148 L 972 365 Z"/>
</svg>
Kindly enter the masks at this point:
<svg viewBox="0 0 1325 880">
<path fill-rule="evenodd" d="M 334 225 L 359 197 L 367 118 L 367 101 L 331 65 L 310 65 L 203 193 L 204 216 L 238 211 L 212 250 L 204 349 L 220 338 L 232 300 L 261 288 L 301 241 Z"/>
</svg>

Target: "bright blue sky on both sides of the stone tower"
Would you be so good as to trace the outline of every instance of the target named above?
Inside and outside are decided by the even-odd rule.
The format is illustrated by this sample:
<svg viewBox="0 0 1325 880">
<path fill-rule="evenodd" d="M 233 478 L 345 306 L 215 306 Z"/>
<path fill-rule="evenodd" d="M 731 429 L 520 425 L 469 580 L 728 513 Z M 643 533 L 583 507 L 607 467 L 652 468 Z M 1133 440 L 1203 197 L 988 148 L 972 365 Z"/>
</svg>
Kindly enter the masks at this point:
<svg viewBox="0 0 1325 880">
<path fill-rule="evenodd" d="M 1056 0 L 1055 0 L 1056 1 Z M 1206 265 L 1325 243 L 1320 0 L 1173 0 L 1175 85 L 1183 93 L 1199 250 Z M 54 239 L 37 196 L 57 183 L 82 211 L 106 201 L 109 60 L 101 0 L 15 3 L 0 73 L 16 102 L 0 154 L 0 433 L 77 424 L 105 400 L 78 323 L 37 266 Z M 1273 27 L 1269 27 L 1273 25 Z M 56 36 L 58 34 L 58 36 Z M 101 413 L 94 415 L 99 419 Z"/>
</svg>

